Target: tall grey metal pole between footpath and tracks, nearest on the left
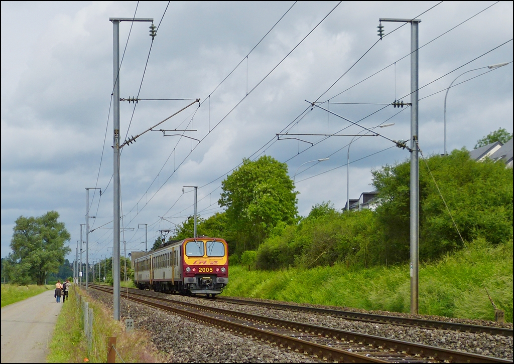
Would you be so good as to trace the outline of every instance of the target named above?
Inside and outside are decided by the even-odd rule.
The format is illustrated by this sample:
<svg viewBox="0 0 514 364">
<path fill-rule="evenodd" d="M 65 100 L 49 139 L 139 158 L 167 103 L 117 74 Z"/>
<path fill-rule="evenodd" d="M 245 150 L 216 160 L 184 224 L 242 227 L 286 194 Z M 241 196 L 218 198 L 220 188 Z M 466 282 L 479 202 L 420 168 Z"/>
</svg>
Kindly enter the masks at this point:
<svg viewBox="0 0 514 364">
<path fill-rule="evenodd" d="M 113 315 L 120 320 L 120 22 L 152 22 L 151 31 L 154 30 L 153 18 L 112 17 L 113 22 L 113 98 L 114 98 L 114 180 L 113 180 Z M 151 33 L 152 35 L 152 33 Z M 155 33 L 154 33 L 155 36 Z M 116 272 L 116 273 L 115 273 Z"/>
</svg>

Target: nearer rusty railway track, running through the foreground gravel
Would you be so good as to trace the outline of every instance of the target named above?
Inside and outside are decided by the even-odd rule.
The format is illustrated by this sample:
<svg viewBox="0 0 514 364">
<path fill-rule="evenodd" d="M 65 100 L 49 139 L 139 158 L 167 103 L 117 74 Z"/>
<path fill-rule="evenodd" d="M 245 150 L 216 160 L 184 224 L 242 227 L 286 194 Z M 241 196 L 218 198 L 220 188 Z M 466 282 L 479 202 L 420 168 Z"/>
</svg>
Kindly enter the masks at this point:
<svg viewBox="0 0 514 364">
<path fill-rule="evenodd" d="M 112 293 L 112 288 L 105 286 L 94 286 L 94 288 Z M 337 362 L 512 362 L 406 341 L 217 309 L 143 293 L 130 292 L 127 294 L 124 292 L 122 296 L 236 334 L 311 355 L 320 360 Z"/>
</svg>

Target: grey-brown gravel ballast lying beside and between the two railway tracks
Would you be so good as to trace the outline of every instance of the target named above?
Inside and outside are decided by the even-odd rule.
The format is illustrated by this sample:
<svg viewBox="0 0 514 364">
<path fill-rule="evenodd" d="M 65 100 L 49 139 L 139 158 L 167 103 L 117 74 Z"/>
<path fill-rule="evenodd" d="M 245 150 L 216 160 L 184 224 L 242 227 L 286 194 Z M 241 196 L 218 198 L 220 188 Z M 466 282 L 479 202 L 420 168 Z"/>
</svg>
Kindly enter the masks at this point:
<svg viewBox="0 0 514 364">
<path fill-rule="evenodd" d="M 149 291 L 146 291 L 147 293 Z M 112 305 L 112 296 L 91 290 L 90 294 Z M 215 300 L 201 300 L 194 297 L 167 295 L 151 292 L 152 295 L 173 300 L 205 304 L 231 311 L 265 315 L 283 320 L 305 322 L 313 325 L 376 335 L 397 340 L 459 350 L 474 354 L 494 356 L 512 360 L 512 337 L 490 334 L 472 334 L 448 330 L 406 328 L 392 324 L 351 321 L 326 315 L 273 310 L 258 306 L 238 305 Z M 123 296 L 123 295 L 122 295 Z M 187 320 L 180 316 L 151 309 L 148 306 L 130 302 L 131 317 L 135 327 L 151 335 L 155 346 L 168 353 L 171 361 L 177 362 L 318 362 L 316 358 L 272 347 L 269 344 L 247 337 L 233 335 L 208 325 Z M 127 317 L 127 301 L 121 300 L 120 314 Z M 362 311 L 365 312 L 365 311 Z M 375 312 L 376 313 L 376 312 Z M 382 312 L 382 314 L 391 314 Z M 397 316 L 402 314 L 394 313 Z M 405 314 L 412 317 L 412 315 Z M 426 318 L 426 317 L 424 317 Z M 430 316 L 430 319 L 442 319 Z M 484 320 L 459 320 L 453 322 L 484 325 Z M 493 325 L 489 323 L 489 325 Z M 508 327 L 509 324 L 504 326 Z M 511 324 L 510 324 L 511 327 Z"/>
</svg>

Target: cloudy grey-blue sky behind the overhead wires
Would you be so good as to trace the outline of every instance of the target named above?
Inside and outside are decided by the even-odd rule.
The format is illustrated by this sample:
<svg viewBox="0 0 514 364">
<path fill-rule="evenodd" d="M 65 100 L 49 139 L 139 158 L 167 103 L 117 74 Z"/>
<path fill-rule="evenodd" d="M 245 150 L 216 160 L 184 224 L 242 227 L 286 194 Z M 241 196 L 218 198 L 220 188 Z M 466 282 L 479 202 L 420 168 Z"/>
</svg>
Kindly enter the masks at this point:
<svg viewBox="0 0 514 364">
<path fill-rule="evenodd" d="M 472 149 L 500 127 L 512 132 L 512 63 L 487 68 L 512 62 L 512 2 L 2 2 L 2 257 L 18 217 L 57 210 L 73 260 L 86 188 L 94 187 L 102 195 L 89 190 L 89 257 L 112 254 L 109 17 L 134 16 L 154 18 L 158 30 L 152 42 L 150 23 L 120 23 L 120 97 L 141 99 L 121 102 L 121 138 L 188 99 L 200 105 L 156 128 L 194 131 L 150 131 L 122 148 L 127 253 L 144 250 L 141 224 L 148 224 L 150 247 L 160 229 L 193 214 L 193 189 L 182 194 L 182 186 L 199 186 L 201 217 L 221 211 L 221 182 L 244 158 L 287 163 L 302 216 L 323 201 L 343 207 L 347 188 L 350 198 L 373 189 L 373 168 L 409 158 L 381 137 L 325 137 L 364 131 L 339 115 L 366 128 L 394 123 L 377 130 L 409 139 L 410 108 L 388 104 L 410 102 L 410 25 L 384 22 L 378 41 L 379 18 L 421 20 L 419 143 L 426 156 L 444 152 L 445 94 L 455 79 L 447 94 L 448 151 Z M 335 114 L 311 110 L 305 100 Z"/>
</svg>

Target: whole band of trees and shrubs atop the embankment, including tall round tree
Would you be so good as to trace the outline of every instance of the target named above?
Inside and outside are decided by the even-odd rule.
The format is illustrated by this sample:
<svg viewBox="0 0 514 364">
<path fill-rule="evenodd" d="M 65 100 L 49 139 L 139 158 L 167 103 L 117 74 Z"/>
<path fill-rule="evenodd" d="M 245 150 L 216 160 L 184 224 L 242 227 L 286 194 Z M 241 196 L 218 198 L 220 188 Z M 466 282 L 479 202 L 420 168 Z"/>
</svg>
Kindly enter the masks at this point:
<svg viewBox="0 0 514 364">
<path fill-rule="evenodd" d="M 342 212 L 323 202 L 302 219 L 286 173 L 287 166 L 272 158 L 244 160 L 223 182 L 219 203 L 226 212 L 199 218 L 198 235 L 227 240 L 231 264 L 265 270 L 409 261 L 409 161 L 372 171 L 376 210 Z M 191 236 L 192 227 L 192 219 L 179 224 L 175 238 Z M 436 261 L 481 238 L 493 244 L 512 239 L 512 169 L 471 160 L 465 149 L 420 160 L 420 261 Z"/>
</svg>

